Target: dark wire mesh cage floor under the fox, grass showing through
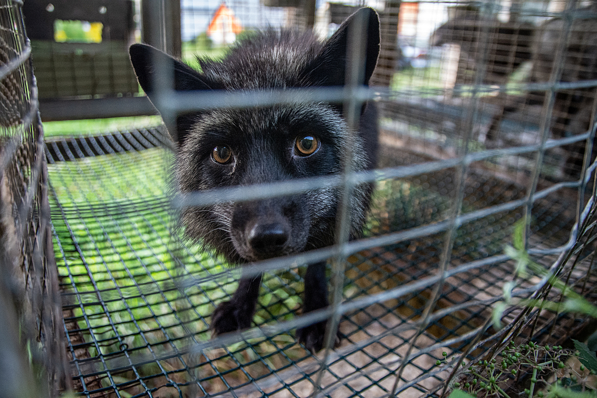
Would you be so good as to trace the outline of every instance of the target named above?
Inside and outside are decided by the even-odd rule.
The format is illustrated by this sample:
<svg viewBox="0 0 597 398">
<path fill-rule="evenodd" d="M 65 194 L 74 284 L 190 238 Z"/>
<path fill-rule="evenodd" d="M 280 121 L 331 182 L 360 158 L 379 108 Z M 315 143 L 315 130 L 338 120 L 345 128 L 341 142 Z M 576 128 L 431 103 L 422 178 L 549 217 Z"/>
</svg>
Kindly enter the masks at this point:
<svg viewBox="0 0 597 398">
<path fill-rule="evenodd" d="M 313 356 L 290 334 L 189 350 L 210 340 L 210 314 L 235 290 L 239 272 L 180 235 L 168 209 L 171 153 L 159 147 L 161 134 L 148 128 L 47 141 L 54 250 L 76 390 L 91 397 L 309 396 L 321 354 Z M 387 165 L 396 165 L 391 153 L 383 156 Z M 445 220 L 453 191 L 451 169 L 380 181 L 365 235 Z M 470 172 L 463 211 L 524 195 L 515 184 Z M 555 195 L 536 203 L 533 246 L 567 240 L 574 200 Z M 497 212 L 461 226 L 450 267 L 501 254 L 521 214 Z M 443 245 L 444 233 L 436 233 L 350 256 L 344 300 L 433 276 Z M 484 300 L 501 295 L 512 271 L 506 261 L 449 277 L 436 308 L 446 310 L 445 316 L 416 339 L 414 321 L 431 289 L 344 314 L 342 344 L 321 378 L 323 395 L 389 393 L 411 344 L 400 396 L 432 395 L 447 377 L 436 366 L 442 351 L 459 353 L 469 344 L 460 337 L 485 322 L 491 304 Z M 302 272 L 264 277 L 256 325 L 300 312 Z"/>
</svg>

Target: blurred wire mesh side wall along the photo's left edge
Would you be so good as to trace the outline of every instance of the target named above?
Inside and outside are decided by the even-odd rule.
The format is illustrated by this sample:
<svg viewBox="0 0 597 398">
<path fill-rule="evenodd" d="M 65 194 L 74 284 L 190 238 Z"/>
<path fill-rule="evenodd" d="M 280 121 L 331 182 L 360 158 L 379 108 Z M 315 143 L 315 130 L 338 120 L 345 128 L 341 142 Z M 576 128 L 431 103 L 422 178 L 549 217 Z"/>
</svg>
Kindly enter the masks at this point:
<svg viewBox="0 0 597 398">
<path fill-rule="evenodd" d="M 0 394 L 55 397 L 68 385 L 64 329 L 22 5 L 0 2 Z"/>
</svg>

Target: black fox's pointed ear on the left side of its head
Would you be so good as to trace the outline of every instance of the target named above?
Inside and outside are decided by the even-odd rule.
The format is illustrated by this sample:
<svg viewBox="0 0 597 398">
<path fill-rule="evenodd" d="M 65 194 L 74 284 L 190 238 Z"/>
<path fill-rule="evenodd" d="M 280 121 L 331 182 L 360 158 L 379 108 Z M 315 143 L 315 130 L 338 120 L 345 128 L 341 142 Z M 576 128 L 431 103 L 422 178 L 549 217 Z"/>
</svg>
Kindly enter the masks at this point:
<svg viewBox="0 0 597 398">
<path fill-rule="evenodd" d="M 217 90 L 220 88 L 216 82 L 208 81 L 201 73 L 150 45 L 133 44 L 128 49 L 128 53 L 131 55 L 131 63 L 141 88 L 160 113 L 162 113 L 162 109 L 160 109 L 159 101 L 156 100 L 154 87 L 155 73 L 159 69 L 156 68 L 158 64 L 174 71 L 174 90 L 176 91 Z M 177 115 L 176 125 L 166 126 L 173 140 L 179 145 L 186 138 L 194 119 L 193 114 Z"/>
</svg>

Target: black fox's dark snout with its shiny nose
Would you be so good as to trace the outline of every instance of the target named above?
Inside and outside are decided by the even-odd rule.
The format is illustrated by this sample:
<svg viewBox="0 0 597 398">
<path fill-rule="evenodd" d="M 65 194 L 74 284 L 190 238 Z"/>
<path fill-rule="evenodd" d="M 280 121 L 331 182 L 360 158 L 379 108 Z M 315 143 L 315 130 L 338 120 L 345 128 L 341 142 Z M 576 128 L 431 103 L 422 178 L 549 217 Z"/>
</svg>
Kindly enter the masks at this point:
<svg viewBox="0 0 597 398">
<path fill-rule="evenodd" d="M 249 261 L 303 251 L 309 235 L 306 207 L 298 198 L 236 204 L 230 223 L 236 251 Z"/>
</svg>

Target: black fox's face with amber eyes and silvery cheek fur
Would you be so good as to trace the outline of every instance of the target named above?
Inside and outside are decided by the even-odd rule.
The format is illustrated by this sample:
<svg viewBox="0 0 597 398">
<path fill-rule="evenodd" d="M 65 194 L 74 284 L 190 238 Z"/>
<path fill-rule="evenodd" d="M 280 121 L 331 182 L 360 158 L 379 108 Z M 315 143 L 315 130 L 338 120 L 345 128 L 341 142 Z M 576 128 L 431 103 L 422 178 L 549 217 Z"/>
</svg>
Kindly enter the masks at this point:
<svg viewBox="0 0 597 398">
<path fill-rule="evenodd" d="M 346 124 L 325 104 L 216 111 L 204 115 L 181 146 L 181 192 L 334 175 L 347 152 Z M 364 143 L 353 142 L 355 169 L 366 166 Z M 356 235 L 366 190 L 351 203 Z M 189 236 L 201 237 L 230 261 L 254 261 L 333 243 L 340 191 L 322 188 L 301 195 L 251 202 L 217 203 L 182 213 Z M 226 246 L 223 246 L 225 243 Z"/>
</svg>

